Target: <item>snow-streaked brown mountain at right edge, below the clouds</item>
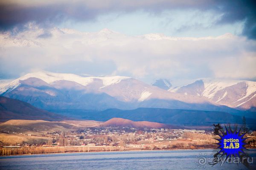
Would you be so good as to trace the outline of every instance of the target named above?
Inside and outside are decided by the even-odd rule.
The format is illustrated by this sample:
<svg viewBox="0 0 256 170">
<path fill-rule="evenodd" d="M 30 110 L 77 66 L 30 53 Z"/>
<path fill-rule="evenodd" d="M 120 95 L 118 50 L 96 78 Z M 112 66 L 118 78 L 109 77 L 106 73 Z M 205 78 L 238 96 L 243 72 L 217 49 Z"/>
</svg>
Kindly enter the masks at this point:
<svg viewBox="0 0 256 170">
<path fill-rule="evenodd" d="M 255 111 L 256 82 L 233 79 L 196 79 L 183 85 L 173 86 L 171 92 L 204 96 L 220 105 Z"/>
</svg>

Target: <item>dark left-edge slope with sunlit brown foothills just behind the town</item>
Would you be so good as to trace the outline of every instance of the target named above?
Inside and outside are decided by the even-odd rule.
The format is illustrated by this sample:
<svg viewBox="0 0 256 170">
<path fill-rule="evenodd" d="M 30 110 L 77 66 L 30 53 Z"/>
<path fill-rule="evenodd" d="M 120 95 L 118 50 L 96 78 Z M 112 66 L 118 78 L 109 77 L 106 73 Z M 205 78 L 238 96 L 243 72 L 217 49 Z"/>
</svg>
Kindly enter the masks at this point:
<svg viewBox="0 0 256 170">
<path fill-rule="evenodd" d="M 84 115 L 86 116 L 86 115 Z M 6 122 L 5 122 L 6 121 Z M 0 96 L 0 129 L 19 133 L 41 132 L 56 130 L 78 130 L 81 127 L 135 127 L 135 128 L 179 128 L 157 122 L 139 121 L 111 118 L 106 122 L 91 120 L 76 120 L 72 116 L 44 111 L 17 99 Z"/>
</svg>

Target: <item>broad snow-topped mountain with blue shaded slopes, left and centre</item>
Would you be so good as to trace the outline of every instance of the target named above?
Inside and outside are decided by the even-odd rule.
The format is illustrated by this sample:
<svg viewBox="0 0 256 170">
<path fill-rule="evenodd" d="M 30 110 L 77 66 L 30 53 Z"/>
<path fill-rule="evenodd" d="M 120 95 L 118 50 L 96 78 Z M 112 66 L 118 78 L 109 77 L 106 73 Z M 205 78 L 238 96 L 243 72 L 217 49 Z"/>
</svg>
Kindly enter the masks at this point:
<svg viewBox="0 0 256 170">
<path fill-rule="evenodd" d="M 44 109 L 154 107 L 219 110 L 220 107 L 206 97 L 166 91 L 131 77 L 82 77 L 39 71 L 1 82 L 0 95 Z"/>
</svg>

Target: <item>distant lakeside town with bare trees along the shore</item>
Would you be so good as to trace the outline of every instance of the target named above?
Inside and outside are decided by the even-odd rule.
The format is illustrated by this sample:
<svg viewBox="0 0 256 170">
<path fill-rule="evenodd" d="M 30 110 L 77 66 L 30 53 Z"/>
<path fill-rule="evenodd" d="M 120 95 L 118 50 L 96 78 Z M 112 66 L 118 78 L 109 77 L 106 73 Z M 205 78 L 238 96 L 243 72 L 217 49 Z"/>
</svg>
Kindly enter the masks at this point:
<svg viewBox="0 0 256 170">
<path fill-rule="evenodd" d="M 72 153 L 123 150 L 175 150 L 215 148 L 212 130 L 133 127 L 90 127 L 48 133 L 3 133 L 33 138 L 30 143 L 1 143 L 0 155 Z M 1 134 L 3 134 L 1 133 Z M 41 137 L 45 141 L 38 141 Z M 247 147 L 256 147 L 256 131 L 248 133 Z"/>
</svg>

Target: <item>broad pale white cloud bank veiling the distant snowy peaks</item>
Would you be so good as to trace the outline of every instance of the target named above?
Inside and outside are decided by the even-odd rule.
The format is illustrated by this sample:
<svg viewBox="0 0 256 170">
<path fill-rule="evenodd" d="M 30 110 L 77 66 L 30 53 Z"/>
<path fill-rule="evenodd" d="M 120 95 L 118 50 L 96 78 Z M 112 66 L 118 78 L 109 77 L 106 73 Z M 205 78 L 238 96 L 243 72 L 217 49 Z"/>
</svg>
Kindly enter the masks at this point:
<svg viewBox="0 0 256 170">
<path fill-rule="evenodd" d="M 50 34 L 41 38 L 43 34 Z M 79 32 L 33 24 L 0 34 L 0 77 L 34 69 L 92 75 L 156 78 L 255 78 L 256 42 L 220 37 L 127 36 L 104 29 Z"/>
</svg>

